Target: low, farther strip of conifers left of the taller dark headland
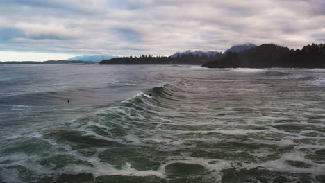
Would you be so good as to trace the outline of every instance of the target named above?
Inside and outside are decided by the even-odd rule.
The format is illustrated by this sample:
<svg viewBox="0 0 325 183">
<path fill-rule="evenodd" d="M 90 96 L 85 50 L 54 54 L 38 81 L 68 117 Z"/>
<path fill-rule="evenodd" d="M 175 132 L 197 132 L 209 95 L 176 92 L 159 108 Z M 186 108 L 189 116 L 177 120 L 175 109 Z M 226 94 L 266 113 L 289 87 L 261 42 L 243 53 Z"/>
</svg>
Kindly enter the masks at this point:
<svg viewBox="0 0 325 183">
<path fill-rule="evenodd" d="M 221 54 L 215 55 L 178 55 L 175 58 L 166 56 L 142 55 L 140 57 L 123 57 L 103 60 L 99 64 L 203 64 L 221 58 Z"/>
</svg>

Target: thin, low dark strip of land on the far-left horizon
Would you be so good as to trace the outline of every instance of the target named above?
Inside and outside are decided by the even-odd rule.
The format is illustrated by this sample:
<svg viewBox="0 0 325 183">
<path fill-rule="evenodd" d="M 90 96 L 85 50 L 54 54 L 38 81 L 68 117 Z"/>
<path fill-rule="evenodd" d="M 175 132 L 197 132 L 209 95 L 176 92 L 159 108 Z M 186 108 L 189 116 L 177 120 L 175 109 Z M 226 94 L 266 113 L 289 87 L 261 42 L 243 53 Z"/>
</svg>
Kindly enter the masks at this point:
<svg viewBox="0 0 325 183">
<path fill-rule="evenodd" d="M 35 61 L 8 61 L 0 62 L 0 64 L 95 64 L 96 62 L 88 62 L 81 60 L 47 60 L 44 62 Z"/>
</svg>

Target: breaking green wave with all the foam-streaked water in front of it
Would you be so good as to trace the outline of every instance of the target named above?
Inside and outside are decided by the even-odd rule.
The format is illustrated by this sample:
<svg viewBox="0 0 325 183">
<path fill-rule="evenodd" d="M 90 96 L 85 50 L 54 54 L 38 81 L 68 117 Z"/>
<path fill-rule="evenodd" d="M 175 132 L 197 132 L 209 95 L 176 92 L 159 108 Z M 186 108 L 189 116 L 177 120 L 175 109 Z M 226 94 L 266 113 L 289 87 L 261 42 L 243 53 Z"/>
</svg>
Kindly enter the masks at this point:
<svg viewBox="0 0 325 183">
<path fill-rule="evenodd" d="M 324 106 L 294 85 L 314 76 L 230 71 L 252 76 L 182 78 L 3 138 L 0 182 L 323 182 Z"/>
</svg>

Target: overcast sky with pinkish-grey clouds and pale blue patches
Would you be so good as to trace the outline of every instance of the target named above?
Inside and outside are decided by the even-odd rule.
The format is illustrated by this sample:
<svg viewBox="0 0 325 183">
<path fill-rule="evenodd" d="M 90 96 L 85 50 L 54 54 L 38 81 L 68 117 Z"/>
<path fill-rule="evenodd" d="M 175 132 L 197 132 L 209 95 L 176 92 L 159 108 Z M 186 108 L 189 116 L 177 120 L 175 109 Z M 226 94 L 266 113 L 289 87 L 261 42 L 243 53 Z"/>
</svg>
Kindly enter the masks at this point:
<svg viewBox="0 0 325 183">
<path fill-rule="evenodd" d="M 325 0 L 1 0 L 0 60 L 325 42 Z"/>
</svg>

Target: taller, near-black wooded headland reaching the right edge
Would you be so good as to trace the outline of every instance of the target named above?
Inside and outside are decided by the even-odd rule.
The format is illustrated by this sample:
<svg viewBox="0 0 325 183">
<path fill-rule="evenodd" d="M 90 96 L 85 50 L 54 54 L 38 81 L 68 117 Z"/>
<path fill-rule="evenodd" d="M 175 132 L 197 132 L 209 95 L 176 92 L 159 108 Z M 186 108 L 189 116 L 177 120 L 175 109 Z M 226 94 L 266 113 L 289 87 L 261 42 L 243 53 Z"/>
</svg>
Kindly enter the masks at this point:
<svg viewBox="0 0 325 183">
<path fill-rule="evenodd" d="M 276 44 L 262 44 L 240 53 L 228 52 L 202 67 L 300 67 L 325 68 L 325 44 L 312 44 L 293 50 Z"/>
</svg>

